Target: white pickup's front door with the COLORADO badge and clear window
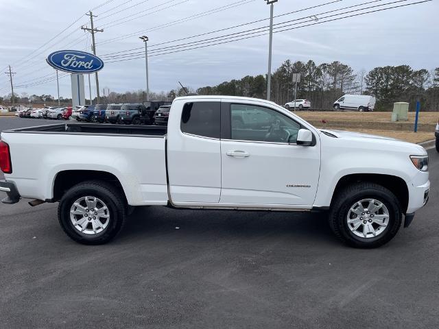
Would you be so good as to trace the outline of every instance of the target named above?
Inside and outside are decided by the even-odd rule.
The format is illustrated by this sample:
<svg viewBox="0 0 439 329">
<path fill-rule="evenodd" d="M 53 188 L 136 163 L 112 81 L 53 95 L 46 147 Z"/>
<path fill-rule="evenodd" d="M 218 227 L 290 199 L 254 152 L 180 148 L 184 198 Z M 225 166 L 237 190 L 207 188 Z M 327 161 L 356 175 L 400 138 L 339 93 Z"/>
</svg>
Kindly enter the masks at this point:
<svg viewBox="0 0 439 329">
<path fill-rule="evenodd" d="M 219 202 L 273 208 L 312 205 L 320 173 L 319 141 L 309 147 L 296 145 L 300 123 L 273 108 L 231 99 L 227 106 L 222 103 L 225 111 L 222 125 L 229 131 L 222 132 Z M 231 121 L 229 129 L 226 118 L 235 112 L 253 112 L 248 115 L 257 120 L 240 125 Z"/>
</svg>

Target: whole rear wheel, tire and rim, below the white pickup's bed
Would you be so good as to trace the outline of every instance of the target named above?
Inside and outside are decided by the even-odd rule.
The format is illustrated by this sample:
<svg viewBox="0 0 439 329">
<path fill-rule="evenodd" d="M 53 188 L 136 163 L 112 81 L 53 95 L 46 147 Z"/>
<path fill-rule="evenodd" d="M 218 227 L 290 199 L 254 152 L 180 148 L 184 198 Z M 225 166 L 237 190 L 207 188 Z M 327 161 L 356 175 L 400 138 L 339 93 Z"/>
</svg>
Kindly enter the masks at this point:
<svg viewBox="0 0 439 329">
<path fill-rule="evenodd" d="M 105 182 L 88 181 L 73 186 L 58 206 L 58 221 L 78 243 L 101 245 L 112 240 L 126 219 L 121 193 Z"/>
</svg>

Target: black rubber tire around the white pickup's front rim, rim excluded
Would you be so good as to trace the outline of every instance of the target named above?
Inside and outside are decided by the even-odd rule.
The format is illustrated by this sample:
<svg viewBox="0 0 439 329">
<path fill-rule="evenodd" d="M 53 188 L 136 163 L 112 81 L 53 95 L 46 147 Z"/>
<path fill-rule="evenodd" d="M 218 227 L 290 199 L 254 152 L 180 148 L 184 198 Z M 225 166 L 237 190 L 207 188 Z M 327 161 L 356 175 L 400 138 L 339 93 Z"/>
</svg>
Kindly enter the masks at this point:
<svg viewBox="0 0 439 329">
<path fill-rule="evenodd" d="M 348 228 L 348 212 L 356 202 L 362 199 L 377 199 L 388 209 L 389 219 L 385 230 L 375 237 L 360 237 L 355 235 Z M 392 193 L 379 184 L 371 182 L 359 182 L 344 188 L 335 195 L 331 204 L 329 226 L 335 236 L 344 243 L 357 248 L 375 248 L 388 243 L 401 227 L 402 212 L 401 205 Z M 367 235 L 367 234 L 366 234 Z"/>
</svg>

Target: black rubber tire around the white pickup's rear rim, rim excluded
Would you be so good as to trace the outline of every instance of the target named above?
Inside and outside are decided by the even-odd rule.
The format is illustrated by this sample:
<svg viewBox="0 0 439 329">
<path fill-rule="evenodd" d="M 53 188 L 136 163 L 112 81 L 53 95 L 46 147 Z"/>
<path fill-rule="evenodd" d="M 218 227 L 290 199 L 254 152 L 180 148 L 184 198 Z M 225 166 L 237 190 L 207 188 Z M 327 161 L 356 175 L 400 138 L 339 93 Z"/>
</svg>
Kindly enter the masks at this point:
<svg viewBox="0 0 439 329">
<path fill-rule="evenodd" d="M 108 225 L 102 232 L 97 234 L 81 233 L 73 226 L 70 219 L 70 210 L 73 203 L 81 197 L 87 196 L 101 199 L 110 214 L 110 217 L 106 219 L 109 221 Z M 125 199 L 117 188 L 106 182 L 91 180 L 73 186 L 62 196 L 58 206 L 58 221 L 62 230 L 74 241 L 84 245 L 102 245 L 114 239 L 123 228 L 127 208 Z"/>
</svg>

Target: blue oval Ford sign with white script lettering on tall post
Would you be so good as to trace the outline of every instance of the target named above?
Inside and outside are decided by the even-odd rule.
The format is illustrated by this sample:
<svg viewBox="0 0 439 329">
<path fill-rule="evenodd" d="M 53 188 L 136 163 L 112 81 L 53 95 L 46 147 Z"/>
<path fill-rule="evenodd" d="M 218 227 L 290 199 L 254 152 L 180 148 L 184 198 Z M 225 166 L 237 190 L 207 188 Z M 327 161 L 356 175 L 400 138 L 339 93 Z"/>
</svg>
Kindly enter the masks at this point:
<svg viewBox="0 0 439 329">
<path fill-rule="evenodd" d="M 70 73 L 93 73 L 104 67 L 104 62 L 93 55 L 78 50 L 58 50 L 47 56 L 47 63 L 57 70 Z"/>
</svg>

